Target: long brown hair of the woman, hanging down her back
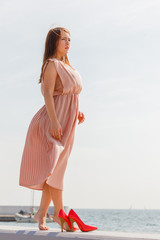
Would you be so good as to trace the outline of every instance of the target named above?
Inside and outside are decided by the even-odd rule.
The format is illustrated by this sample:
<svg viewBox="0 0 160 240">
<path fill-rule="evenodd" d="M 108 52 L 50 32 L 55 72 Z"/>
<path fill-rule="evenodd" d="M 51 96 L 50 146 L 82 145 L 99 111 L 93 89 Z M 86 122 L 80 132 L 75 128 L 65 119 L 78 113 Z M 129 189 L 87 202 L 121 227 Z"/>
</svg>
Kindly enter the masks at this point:
<svg viewBox="0 0 160 240">
<path fill-rule="evenodd" d="M 65 31 L 70 35 L 69 30 L 63 27 L 52 28 L 49 30 L 47 34 L 46 41 L 45 41 L 45 50 L 43 55 L 43 64 L 41 67 L 41 74 L 40 74 L 40 79 L 38 83 L 41 83 L 43 67 L 45 63 L 48 61 L 49 58 L 51 58 L 56 53 L 57 44 L 61 37 L 61 31 Z M 65 55 L 65 63 L 70 66 L 67 55 Z"/>
</svg>

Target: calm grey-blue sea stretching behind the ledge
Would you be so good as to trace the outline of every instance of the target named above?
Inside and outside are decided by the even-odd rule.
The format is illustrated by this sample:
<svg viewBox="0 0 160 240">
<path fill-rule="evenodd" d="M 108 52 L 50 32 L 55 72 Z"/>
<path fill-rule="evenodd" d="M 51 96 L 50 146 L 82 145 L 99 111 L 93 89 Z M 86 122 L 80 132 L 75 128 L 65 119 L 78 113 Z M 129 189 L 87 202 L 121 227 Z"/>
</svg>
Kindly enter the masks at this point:
<svg viewBox="0 0 160 240">
<path fill-rule="evenodd" d="M 160 233 L 160 210 L 79 208 L 73 210 L 85 224 L 98 227 L 96 231 Z M 0 225 L 36 227 L 37 223 L 0 222 Z M 46 225 L 49 228 L 60 228 L 55 222 Z"/>
</svg>

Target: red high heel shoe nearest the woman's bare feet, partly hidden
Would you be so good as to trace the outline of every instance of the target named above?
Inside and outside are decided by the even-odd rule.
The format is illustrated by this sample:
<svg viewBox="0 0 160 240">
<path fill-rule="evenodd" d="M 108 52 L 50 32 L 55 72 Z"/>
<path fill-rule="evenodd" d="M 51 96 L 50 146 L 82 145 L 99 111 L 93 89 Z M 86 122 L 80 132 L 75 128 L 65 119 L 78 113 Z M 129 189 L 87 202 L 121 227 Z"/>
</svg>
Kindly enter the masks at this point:
<svg viewBox="0 0 160 240">
<path fill-rule="evenodd" d="M 63 209 L 61 209 L 59 211 L 58 217 L 60 218 L 60 221 L 61 221 L 61 232 L 63 232 L 63 228 L 64 228 L 63 223 L 64 222 L 67 222 L 68 227 L 69 227 L 69 229 L 64 228 L 67 232 L 74 232 L 79 229 L 79 228 L 73 226 L 73 224 L 71 225 L 71 222 L 70 222 L 67 214 L 63 211 Z"/>
</svg>

